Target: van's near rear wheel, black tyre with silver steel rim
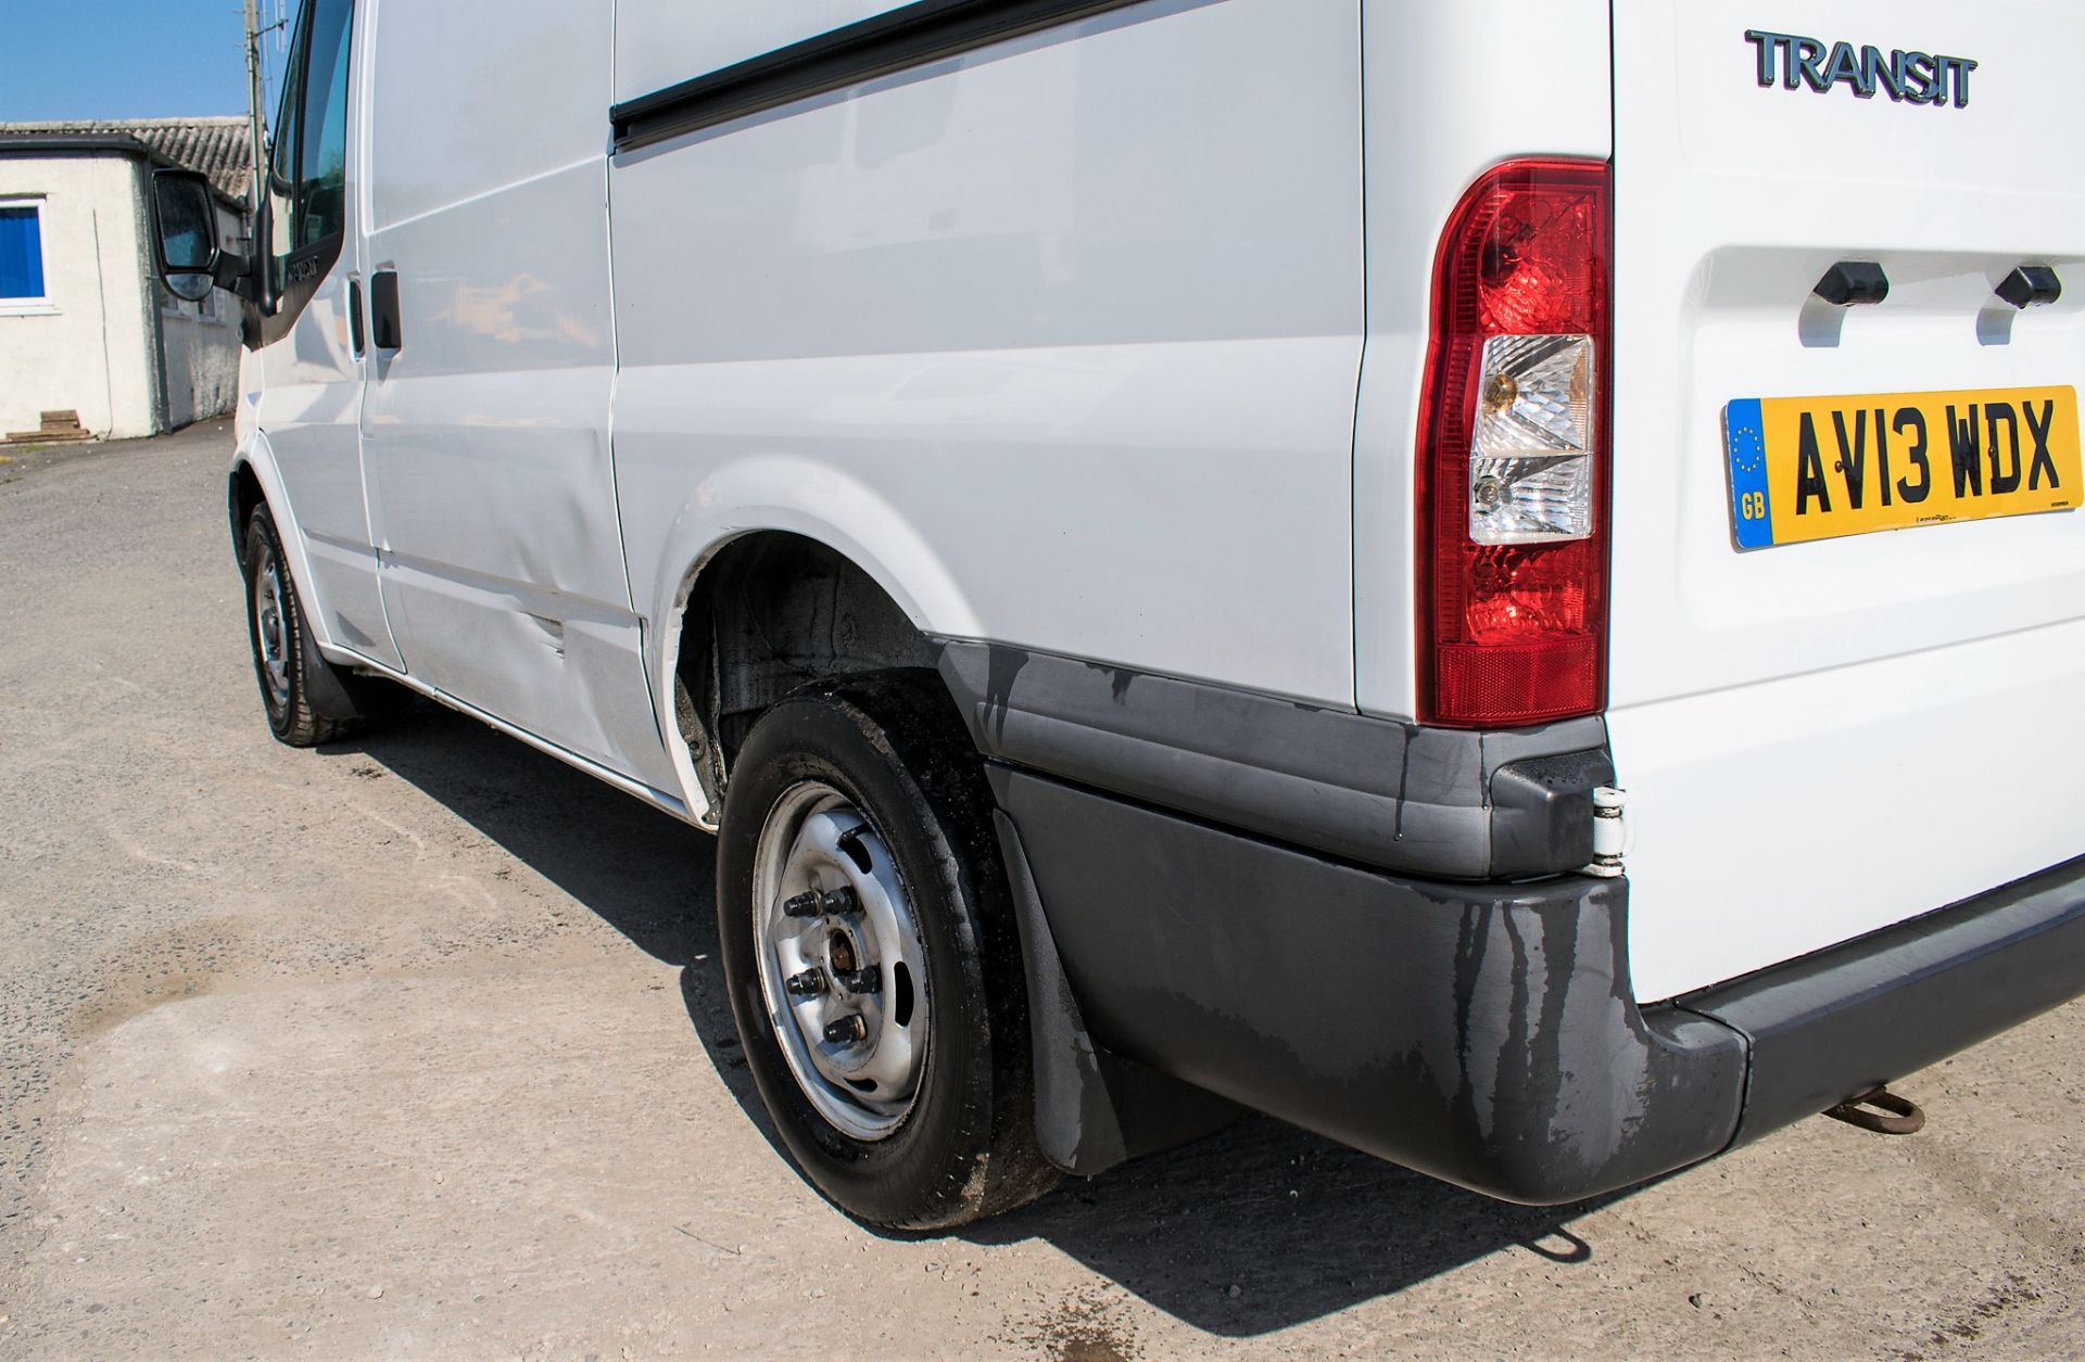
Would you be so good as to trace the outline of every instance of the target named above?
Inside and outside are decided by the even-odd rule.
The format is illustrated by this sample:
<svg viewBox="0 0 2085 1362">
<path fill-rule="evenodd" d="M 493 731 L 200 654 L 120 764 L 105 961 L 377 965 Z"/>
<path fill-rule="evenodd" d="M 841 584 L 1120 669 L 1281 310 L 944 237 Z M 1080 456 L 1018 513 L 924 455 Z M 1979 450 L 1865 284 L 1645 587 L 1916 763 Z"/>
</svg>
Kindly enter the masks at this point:
<svg viewBox="0 0 2085 1362">
<path fill-rule="evenodd" d="M 853 1216 L 951 1229 L 1055 1185 L 976 750 L 928 675 L 774 706 L 723 802 L 717 935 L 784 1145 Z"/>
</svg>

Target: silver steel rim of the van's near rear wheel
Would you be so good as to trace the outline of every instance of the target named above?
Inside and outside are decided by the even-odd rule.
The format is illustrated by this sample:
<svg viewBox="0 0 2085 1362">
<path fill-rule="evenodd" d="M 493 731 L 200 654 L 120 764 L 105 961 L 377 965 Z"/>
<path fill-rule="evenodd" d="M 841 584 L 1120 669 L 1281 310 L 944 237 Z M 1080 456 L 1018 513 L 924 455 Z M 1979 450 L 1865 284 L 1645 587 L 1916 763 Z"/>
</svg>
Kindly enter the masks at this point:
<svg viewBox="0 0 2085 1362">
<path fill-rule="evenodd" d="M 809 910 L 805 896 L 824 896 L 824 906 Z M 840 1133 L 890 1137 L 926 1073 L 926 948 L 884 839 L 824 781 L 792 785 L 761 827 L 753 952 L 796 1087 Z M 828 1031 L 853 1027 L 851 1018 L 857 1037 Z"/>
</svg>

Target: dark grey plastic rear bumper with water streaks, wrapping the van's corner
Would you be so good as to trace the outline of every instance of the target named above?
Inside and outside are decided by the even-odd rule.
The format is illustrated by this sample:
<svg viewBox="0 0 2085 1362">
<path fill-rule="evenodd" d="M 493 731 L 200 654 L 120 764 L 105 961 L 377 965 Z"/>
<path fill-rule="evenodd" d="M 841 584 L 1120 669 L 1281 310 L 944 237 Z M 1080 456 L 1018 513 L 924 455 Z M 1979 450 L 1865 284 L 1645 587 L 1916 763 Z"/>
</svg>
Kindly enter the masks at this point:
<svg viewBox="0 0 2085 1362">
<path fill-rule="evenodd" d="M 1409 879 L 992 775 L 1093 1039 L 1514 1202 L 1710 1158 L 2085 991 L 2085 858 L 1643 1008 L 1626 881 Z"/>
</svg>

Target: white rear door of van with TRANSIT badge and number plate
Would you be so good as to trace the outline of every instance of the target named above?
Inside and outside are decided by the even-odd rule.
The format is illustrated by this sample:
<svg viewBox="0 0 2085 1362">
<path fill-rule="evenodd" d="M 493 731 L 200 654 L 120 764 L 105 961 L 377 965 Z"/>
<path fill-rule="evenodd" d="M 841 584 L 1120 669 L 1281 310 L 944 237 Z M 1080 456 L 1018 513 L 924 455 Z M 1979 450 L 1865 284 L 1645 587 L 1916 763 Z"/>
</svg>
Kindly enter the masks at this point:
<svg viewBox="0 0 2085 1362">
<path fill-rule="evenodd" d="M 2085 852 L 2079 50 L 2062 0 L 1614 6 L 1643 1000 Z"/>
</svg>

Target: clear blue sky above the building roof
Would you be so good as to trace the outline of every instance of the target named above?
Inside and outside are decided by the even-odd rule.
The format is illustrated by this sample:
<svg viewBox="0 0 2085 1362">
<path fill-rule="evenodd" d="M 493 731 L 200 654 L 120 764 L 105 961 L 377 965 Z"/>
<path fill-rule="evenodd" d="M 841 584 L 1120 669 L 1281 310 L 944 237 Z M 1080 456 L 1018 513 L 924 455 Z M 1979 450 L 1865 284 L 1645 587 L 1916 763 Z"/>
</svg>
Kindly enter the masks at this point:
<svg viewBox="0 0 2085 1362">
<path fill-rule="evenodd" d="M 0 123 L 246 112 L 244 27 L 242 0 L 0 0 Z"/>
</svg>

